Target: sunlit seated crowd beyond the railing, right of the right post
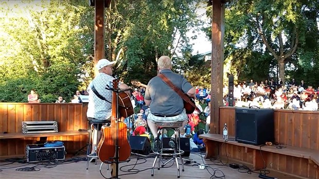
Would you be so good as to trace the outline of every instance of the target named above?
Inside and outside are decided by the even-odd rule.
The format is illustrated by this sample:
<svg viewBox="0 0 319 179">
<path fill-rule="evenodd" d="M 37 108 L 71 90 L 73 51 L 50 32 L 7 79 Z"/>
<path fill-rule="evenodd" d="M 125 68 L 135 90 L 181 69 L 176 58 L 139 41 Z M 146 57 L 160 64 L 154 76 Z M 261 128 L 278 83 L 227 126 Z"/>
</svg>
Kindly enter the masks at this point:
<svg viewBox="0 0 319 179">
<path fill-rule="evenodd" d="M 228 87 L 224 85 L 224 105 L 229 105 Z M 278 82 L 265 80 L 258 83 L 253 80 L 250 83 L 242 82 L 234 85 L 234 106 L 256 107 L 289 110 L 318 110 L 319 87 L 306 86 L 304 80 L 297 84 L 294 79 L 283 85 Z"/>
</svg>

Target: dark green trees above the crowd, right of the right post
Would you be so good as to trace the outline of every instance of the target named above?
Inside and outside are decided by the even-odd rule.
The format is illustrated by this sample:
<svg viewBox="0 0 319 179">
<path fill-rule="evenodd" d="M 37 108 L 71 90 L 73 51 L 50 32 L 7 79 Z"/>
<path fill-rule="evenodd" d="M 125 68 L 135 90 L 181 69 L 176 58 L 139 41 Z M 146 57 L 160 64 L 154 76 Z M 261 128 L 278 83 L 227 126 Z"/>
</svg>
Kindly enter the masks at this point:
<svg viewBox="0 0 319 179">
<path fill-rule="evenodd" d="M 209 17 L 211 9 L 206 10 Z M 318 1 L 229 1 L 225 4 L 224 56 L 231 60 L 232 67 L 224 73 L 233 73 L 239 80 L 277 78 L 282 60 L 292 67 L 286 69 L 287 80 L 302 78 L 308 84 L 317 84 L 309 77 L 316 74 L 319 62 L 318 12 Z M 211 39 L 211 27 L 204 30 Z"/>
</svg>

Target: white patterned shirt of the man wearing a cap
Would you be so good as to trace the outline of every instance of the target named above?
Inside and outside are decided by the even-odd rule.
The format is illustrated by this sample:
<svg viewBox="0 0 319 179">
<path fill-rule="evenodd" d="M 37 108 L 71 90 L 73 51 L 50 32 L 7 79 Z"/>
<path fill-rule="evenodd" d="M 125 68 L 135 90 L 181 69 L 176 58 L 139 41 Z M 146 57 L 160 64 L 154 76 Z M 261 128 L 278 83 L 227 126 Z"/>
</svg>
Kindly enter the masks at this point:
<svg viewBox="0 0 319 179">
<path fill-rule="evenodd" d="M 93 83 L 96 91 L 108 101 L 112 102 L 112 91 L 105 89 L 107 85 L 112 84 L 114 78 L 110 75 L 99 73 L 91 83 Z M 91 89 L 91 83 L 87 87 L 88 105 L 87 117 L 98 120 L 109 119 L 112 115 L 112 105 L 108 101 L 104 101 L 97 97 Z"/>
</svg>

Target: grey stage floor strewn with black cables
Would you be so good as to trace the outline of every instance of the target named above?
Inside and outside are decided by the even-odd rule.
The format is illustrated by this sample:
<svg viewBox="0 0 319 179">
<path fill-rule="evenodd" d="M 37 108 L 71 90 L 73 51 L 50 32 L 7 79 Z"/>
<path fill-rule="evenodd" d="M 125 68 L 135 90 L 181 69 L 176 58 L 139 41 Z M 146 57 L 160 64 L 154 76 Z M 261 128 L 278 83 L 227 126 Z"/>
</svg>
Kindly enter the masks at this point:
<svg viewBox="0 0 319 179">
<path fill-rule="evenodd" d="M 202 155 L 204 157 L 204 154 Z M 120 166 L 125 166 L 125 165 L 130 165 L 128 167 L 122 168 L 122 170 L 129 170 L 133 168 L 133 165 L 136 163 L 143 163 L 136 165 L 134 169 L 136 170 L 145 170 L 148 168 L 152 167 L 153 160 L 154 158 L 146 158 L 146 159 L 138 159 L 136 160 L 136 155 L 131 156 L 131 161 L 129 163 L 122 163 Z M 190 158 L 193 160 L 193 162 L 190 165 L 185 165 L 185 171 L 182 172 L 181 170 L 181 177 L 183 179 L 186 178 L 210 178 L 211 174 L 208 173 L 206 169 L 199 169 L 198 166 L 191 166 L 193 164 L 203 164 L 202 157 L 197 154 L 190 154 L 189 157 L 185 158 Z M 237 171 L 237 169 L 232 169 L 229 168 L 228 166 L 219 166 L 221 163 L 214 163 L 208 160 L 204 160 L 205 164 L 209 164 L 211 168 L 214 170 L 221 170 L 224 174 L 225 177 L 220 177 L 220 178 L 229 178 L 229 179 L 237 179 L 237 178 L 245 178 L 245 179 L 250 179 L 250 178 L 258 178 L 257 173 L 240 173 Z M 27 166 L 23 166 L 26 164 L 10 164 L 10 165 L 5 165 L 3 164 L 6 163 L 0 163 L 0 169 L 3 169 L 3 171 L 0 170 L 0 179 L 11 179 L 11 178 L 24 178 L 24 179 L 34 179 L 34 178 L 103 178 L 102 175 L 100 174 L 99 167 L 101 162 L 98 162 L 98 165 L 94 165 L 94 163 L 90 163 L 88 170 L 86 170 L 86 161 L 80 161 L 77 163 L 70 163 L 70 164 L 63 164 L 63 165 L 57 165 L 54 168 L 44 168 L 41 167 L 40 171 L 16 171 L 17 168 L 23 168 L 23 167 L 32 167 L 35 166 L 34 164 L 30 164 Z M 173 165 L 172 165 L 173 164 Z M 216 165 L 217 164 L 217 165 Z M 129 175 L 122 175 L 119 176 L 119 178 L 177 178 L 177 170 L 176 170 L 176 164 L 173 162 L 170 162 L 167 164 L 168 166 L 171 166 L 169 168 L 161 168 L 161 170 L 154 169 L 154 176 L 151 176 L 151 169 L 145 170 L 145 171 L 140 171 L 136 174 L 129 174 L 130 172 L 122 172 L 119 171 L 119 174 L 129 174 Z M 156 165 L 157 166 L 157 165 Z M 16 168 L 11 168 L 11 169 L 4 169 L 4 168 L 10 168 L 10 167 L 16 167 Z M 182 166 L 180 165 L 180 168 Z M 251 166 L 249 166 L 251 167 Z M 208 168 L 210 173 L 214 173 L 213 169 Z M 106 177 L 110 177 L 110 170 L 106 170 L 106 165 L 102 166 L 102 173 Z M 222 176 L 223 174 L 220 171 L 216 171 L 217 176 Z M 269 176 L 277 177 L 280 179 L 283 178 L 296 178 L 288 175 L 283 175 L 277 172 L 271 171 Z"/>
</svg>

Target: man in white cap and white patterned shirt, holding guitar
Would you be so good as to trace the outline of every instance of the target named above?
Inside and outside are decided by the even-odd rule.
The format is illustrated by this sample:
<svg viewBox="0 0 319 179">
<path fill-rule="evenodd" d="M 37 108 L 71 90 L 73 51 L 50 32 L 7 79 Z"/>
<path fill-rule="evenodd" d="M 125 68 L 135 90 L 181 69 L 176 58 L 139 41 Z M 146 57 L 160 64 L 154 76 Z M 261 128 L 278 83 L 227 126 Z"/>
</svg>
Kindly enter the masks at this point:
<svg viewBox="0 0 319 179">
<path fill-rule="evenodd" d="M 108 120 L 111 121 L 112 115 L 112 91 L 105 89 L 107 85 L 112 84 L 114 77 L 112 77 L 112 67 L 115 61 L 110 62 L 107 59 L 101 59 L 98 61 L 96 68 L 99 70 L 99 74 L 93 79 L 93 81 L 88 85 L 87 92 L 88 92 L 88 105 L 87 105 L 87 113 L 86 116 L 88 120 Z M 96 91 L 108 101 L 100 99 L 93 91 L 92 91 L 92 84 Z M 110 86 L 111 87 L 111 86 Z M 126 84 L 120 84 L 120 89 L 128 89 L 129 86 Z M 127 91 L 130 95 L 130 91 Z M 92 151 L 91 154 L 95 153 L 95 149 L 97 147 L 96 140 L 100 139 L 101 133 L 97 132 L 101 130 L 102 126 L 95 125 L 94 132 L 92 135 Z M 95 158 L 91 158 L 91 162 L 95 162 Z"/>
</svg>

